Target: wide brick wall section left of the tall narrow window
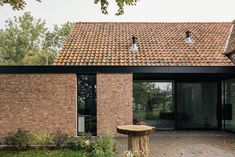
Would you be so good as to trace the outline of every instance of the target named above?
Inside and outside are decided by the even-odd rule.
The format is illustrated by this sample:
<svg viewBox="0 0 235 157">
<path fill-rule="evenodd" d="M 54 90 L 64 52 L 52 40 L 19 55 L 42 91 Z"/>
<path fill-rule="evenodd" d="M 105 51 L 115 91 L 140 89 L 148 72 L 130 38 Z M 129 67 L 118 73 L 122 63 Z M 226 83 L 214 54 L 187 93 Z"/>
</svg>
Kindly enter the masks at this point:
<svg viewBox="0 0 235 157">
<path fill-rule="evenodd" d="M 76 135 L 76 74 L 0 74 L 0 134 L 65 130 Z"/>
</svg>

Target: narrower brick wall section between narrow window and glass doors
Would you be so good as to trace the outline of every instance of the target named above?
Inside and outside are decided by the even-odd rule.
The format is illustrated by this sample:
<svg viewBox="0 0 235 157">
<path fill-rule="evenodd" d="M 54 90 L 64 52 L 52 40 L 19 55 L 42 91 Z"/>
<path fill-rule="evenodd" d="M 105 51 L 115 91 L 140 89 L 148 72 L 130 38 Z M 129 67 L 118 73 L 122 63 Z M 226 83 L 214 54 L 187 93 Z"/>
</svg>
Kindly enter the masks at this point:
<svg viewBox="0 0 235 157">
<path fill-rule="evenodd" d="M 97 134 L 133 123 L 132 74 L 97 74 Z"/>
</svg>

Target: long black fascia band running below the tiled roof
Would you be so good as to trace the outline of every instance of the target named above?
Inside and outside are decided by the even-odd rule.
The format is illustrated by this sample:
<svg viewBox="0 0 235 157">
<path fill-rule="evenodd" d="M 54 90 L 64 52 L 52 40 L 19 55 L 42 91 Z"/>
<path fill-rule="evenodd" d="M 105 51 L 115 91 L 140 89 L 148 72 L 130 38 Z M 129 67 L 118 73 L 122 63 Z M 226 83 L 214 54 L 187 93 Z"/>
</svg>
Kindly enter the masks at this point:
<svg viewBox="0 0 235 157">
<path fill-rule="evenodd" d="M 235 66 L 0 66 L 0 74 L 29 73 L 235 74 Z"/>
</svg>

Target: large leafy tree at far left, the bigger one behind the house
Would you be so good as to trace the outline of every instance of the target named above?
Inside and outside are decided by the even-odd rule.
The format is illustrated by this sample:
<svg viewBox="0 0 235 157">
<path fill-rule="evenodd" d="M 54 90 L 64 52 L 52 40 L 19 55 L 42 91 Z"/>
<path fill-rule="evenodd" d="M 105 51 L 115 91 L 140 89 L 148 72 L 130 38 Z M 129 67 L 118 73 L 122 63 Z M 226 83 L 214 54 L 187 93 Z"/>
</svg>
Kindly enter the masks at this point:
<svg viewBox="0 0 235 157">
<path fill-rule="evenodd" d="M 6 21 L 6 29 L 1 30 L 0 63 L 6 65 L 24 64 L 24 57 L 39 51 L 45 22 L 35 20 L 30 13 Z"/>
</svg>

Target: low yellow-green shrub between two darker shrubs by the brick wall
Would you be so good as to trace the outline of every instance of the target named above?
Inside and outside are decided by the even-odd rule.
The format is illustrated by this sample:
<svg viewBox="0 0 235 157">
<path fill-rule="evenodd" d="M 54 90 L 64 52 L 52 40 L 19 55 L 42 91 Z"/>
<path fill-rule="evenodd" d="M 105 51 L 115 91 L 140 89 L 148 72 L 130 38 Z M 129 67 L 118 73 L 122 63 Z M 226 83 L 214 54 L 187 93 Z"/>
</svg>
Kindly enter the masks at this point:
<svg viewBox="0 0 235 157">
<path fill-rule="evenodd" d="M 31 145 L 48 145 L 53 141 L 52 134 L 44 133 L 44 134 L 32 134 L 29 138 L 29 143 Z"/>
</svg>

